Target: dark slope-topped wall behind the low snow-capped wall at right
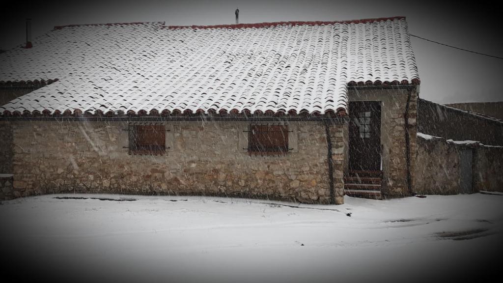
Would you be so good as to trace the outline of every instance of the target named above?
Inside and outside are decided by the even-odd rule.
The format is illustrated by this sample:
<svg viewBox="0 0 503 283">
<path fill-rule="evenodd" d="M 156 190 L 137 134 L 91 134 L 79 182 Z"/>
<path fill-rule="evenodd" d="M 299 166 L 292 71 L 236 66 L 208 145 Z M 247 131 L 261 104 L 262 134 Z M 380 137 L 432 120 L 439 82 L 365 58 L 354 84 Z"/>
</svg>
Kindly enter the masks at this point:
<svg viewBox="0 0 503 283">
<path fill-rule="evenodd" d="M 419 132 L 454 140 L 478 140 L 484 145 L 503 146 L 503 122 L 424 99 L 418 100 L 418 113 Z"/>
</svg>

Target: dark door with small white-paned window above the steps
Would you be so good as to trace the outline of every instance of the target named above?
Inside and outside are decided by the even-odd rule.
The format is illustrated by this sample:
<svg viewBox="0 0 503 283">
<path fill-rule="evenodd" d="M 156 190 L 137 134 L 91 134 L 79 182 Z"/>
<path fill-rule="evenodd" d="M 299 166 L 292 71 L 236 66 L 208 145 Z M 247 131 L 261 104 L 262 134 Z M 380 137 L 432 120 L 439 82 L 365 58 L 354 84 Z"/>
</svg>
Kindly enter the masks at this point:
<svg viewBox="0 0 503 283">
<path fill-rule="evenodd" d="M 380 102 L 350 102 L 349 115 L 350 170 L 381 170 Z"/>
</svg>

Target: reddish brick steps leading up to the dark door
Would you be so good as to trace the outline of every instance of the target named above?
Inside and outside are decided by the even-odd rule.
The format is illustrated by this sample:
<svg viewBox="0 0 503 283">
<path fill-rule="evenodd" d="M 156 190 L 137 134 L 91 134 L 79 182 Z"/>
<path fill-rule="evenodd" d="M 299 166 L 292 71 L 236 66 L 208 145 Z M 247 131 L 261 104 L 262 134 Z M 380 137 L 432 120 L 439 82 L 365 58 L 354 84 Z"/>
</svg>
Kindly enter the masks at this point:
<svg viewBox="0 0 503 283">
<path fill-rule="evenodd" d="M 382 199 L 382 171 L 349 171 L 344 177 L 344 194 L 349 196 Z"/>
</svg>

